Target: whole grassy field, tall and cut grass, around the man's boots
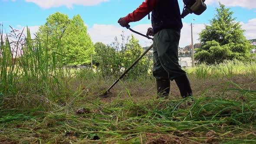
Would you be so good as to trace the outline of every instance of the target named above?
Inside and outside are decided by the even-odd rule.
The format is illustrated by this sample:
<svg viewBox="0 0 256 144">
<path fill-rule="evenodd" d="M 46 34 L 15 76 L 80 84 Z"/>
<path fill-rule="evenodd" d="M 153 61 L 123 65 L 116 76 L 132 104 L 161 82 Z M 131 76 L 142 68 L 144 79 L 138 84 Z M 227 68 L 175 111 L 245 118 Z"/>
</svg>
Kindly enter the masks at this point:
<svg viewBox="0 0 256 144">
<path fill-rule="evenodd" d="M 115 77 L 61 69 L 61 56 L 42 45 L 13 59 L 1 42 L 0 143 L 256 143 L 256 62 L 186 69 L 193 98 L 181 99 L 172 82 L 170 97 L 156 99 L 151 74 L 101 98 Z"/>
</svg>

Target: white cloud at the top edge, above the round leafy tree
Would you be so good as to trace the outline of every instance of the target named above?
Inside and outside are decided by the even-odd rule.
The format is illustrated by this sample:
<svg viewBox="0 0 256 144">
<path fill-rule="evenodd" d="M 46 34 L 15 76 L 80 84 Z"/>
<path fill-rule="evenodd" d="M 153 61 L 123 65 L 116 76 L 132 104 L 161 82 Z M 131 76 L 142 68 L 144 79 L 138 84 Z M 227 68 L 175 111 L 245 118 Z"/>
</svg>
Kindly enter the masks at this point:
<svg viewBox="0 0 256 144">
<path fill-rule="evenodd" d="M 36 3 L 39 7 L 48 9 L 50 7 L 66 6 L 72 8 L 73 4 L 82 6 L 94 6 L 110 0 L 25 0 L 26 2 Z"/>
</svg>

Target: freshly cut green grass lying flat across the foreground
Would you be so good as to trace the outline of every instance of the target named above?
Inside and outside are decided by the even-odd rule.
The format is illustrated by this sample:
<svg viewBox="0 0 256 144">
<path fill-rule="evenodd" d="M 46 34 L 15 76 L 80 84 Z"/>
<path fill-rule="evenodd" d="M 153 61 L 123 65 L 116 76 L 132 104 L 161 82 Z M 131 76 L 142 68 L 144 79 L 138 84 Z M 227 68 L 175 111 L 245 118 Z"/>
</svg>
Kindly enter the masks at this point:
<svg viewBox="0 0 256 144">
<path fill-rule="evenodd" d="M 2 110 L 0 139 L 22 143 L 255 143 L 256 91 L 233 82 L 223 85 L 228 85 L 223 95 L 234 93 L 240 101 L 223 95 L 210 98 L 207 91 L 194 101 L 136 103 L 120 97 L 112 97 L 115 100 L 109 103 L 102 99 L 90 102 L 87 97 L 92 95 L 87 95 L 77 97 L 83 104 L 74 105 L 87 108 L 82 115 L 75 115 L 75 108 L 64 113 L 65 107 L 55 112 L 26 109 L 18 114 L 17 109 Z"/>
</svg>

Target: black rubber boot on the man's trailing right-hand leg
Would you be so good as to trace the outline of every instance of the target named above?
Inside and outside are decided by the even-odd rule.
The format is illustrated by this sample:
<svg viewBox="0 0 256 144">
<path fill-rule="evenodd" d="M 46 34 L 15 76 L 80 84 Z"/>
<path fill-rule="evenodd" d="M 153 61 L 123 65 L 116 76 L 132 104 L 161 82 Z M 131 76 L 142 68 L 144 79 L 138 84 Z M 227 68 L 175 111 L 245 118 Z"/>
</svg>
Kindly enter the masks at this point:
<svg viewBox="0 0 256 144">
<path fill-rule="evenodd" d="M 178 88 L 180 89 L 182 98 L 187 98 L 188 96 L 192 96 L 192 89 L 190 87 L 190 82 L 187 77 L 187 74 L 181 75 L 181 76 L 175 78 L 174 80 L 175 80 Z"/>
</svg>

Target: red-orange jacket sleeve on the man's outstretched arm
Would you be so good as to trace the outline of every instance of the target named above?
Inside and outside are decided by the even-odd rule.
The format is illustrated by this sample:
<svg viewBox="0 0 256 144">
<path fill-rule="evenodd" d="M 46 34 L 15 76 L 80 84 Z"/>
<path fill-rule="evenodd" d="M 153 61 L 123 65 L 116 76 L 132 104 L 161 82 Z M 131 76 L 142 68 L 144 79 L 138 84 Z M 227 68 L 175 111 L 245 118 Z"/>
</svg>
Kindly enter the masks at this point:
<svg viewBox="0 0 256 144">
<path fill-rule="evenodd" d="M 160 0 L 146 0 L 135 11 L 125 16 L 125 21 L 130 23 L 141 20 L 158 6 L 159 1 Z"/>
</svg>

